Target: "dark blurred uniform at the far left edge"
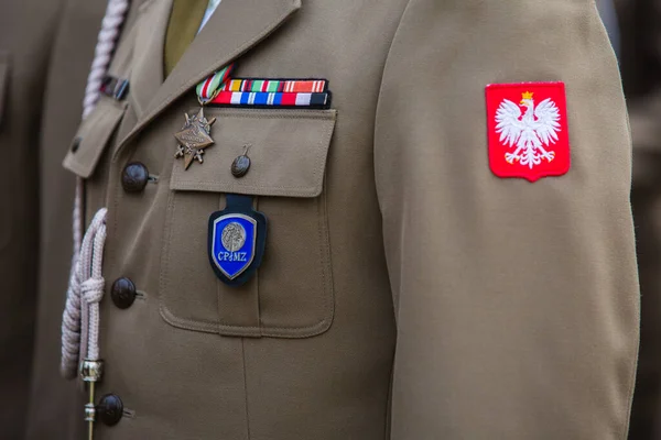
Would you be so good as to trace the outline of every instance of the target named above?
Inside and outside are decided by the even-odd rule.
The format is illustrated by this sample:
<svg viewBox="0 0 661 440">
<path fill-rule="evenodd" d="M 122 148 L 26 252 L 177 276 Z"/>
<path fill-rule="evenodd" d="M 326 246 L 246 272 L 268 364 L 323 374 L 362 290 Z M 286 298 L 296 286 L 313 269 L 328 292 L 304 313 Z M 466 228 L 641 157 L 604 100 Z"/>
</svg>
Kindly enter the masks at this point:
<svg viewBox="0 0 661 440">
<path fill-rule="evenodd" d="M 0 3 L 0 437 L 21 438 L 36 309 L 39 125 L 59 1 Z"/>
</svg>

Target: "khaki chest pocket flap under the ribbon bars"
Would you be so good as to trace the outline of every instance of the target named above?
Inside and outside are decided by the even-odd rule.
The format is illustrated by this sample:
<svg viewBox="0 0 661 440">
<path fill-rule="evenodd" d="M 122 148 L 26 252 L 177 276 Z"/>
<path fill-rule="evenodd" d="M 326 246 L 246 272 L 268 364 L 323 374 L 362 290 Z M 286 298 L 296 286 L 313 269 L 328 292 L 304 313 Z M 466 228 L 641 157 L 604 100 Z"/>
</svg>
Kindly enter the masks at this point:
<svg viewBox="0 0 661 440">
<path fill-rule="evenodd" d="M 184 161 L 175 161 L 172 189 L 284 197 L 322 193 L 335 110 L 205 108 L 205 116 L 216 118 L 215 144 L 206 148 L 203 164 L 184 169 Z M 245 145 L 250 145 L 250 168 L 235 177 L 231 163 Z"/>
</svg>

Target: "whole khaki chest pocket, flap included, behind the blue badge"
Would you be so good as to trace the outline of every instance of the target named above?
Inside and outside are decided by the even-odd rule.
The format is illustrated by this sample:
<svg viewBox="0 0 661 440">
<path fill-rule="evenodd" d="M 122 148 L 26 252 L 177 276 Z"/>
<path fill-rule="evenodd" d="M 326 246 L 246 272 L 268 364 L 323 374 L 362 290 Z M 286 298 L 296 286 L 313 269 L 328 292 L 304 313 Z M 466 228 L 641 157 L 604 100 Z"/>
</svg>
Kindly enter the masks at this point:
<svg viewBox="0 0 661 440">
<path fill-rule="evenodd" d="M 171 324 L 225 336 L 306 338 L 333 321 L 324 172 L 334 110 L 206 109 L 216 144 L 184 170 L 175 161 L 161 264 L 161 315 Z M 248 173 L 232 161 L 251 145 Z M 268 218 L 264 256 L 247 284 L 229 287 L 207 256 L 207 221 L 226 194 L 256 196 Z"/>
</svg>

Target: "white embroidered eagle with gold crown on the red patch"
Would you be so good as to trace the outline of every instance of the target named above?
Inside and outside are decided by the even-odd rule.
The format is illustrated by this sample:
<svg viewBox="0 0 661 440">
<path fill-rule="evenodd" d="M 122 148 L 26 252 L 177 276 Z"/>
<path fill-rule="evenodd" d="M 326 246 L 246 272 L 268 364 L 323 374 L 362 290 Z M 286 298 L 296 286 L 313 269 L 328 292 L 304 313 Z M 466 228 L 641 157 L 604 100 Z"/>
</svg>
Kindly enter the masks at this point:
<svg viewBox="0 0 661 440">
<path fill-rule="evenodd" d="M 525 107 L 522 117 L 519 106 L 509 99 L 503 99 L 496 111 L 496 133 L 500 133 L 500 142 L 510 148 L 517 146 L 513 153 L 505 154 L 505 160 L 531 169 L 541 164 L 542 158 L 553 161 L 555 152 L 548 147 L 557 141 L 560 131 L 560 110 L 555 102 L 546 98 L 535 108 L 532 96 L 530 91 L 521 94 L 519 106 Z"/>
</svg>

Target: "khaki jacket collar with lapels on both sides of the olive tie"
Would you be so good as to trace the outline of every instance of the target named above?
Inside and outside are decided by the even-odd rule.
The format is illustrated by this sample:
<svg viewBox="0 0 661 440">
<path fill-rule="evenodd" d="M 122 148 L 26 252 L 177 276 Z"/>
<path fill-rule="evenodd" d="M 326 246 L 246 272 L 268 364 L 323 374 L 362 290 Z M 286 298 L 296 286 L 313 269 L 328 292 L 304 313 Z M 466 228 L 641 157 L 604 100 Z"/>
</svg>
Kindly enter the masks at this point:
<svg viewBox="0 0 661 440">
<path fill-rule="evenodd" d="M 301 0 L 223 0 L 202 32 L 186 50 L 175 68 L 163 78 L 163 44 L 172 0 L 152 0 L 143 13 L 153 25 L 139 32 L 132 90 L 138 123 L 118 145 L 115 156 L 158 114 L 214 70 L 232 62 L 266 38 L 301 8 Z M 144 21 L 140 21 L 142 25 Z M 161 84 L 162 82 L 162 84 Z"/>
</svg>

